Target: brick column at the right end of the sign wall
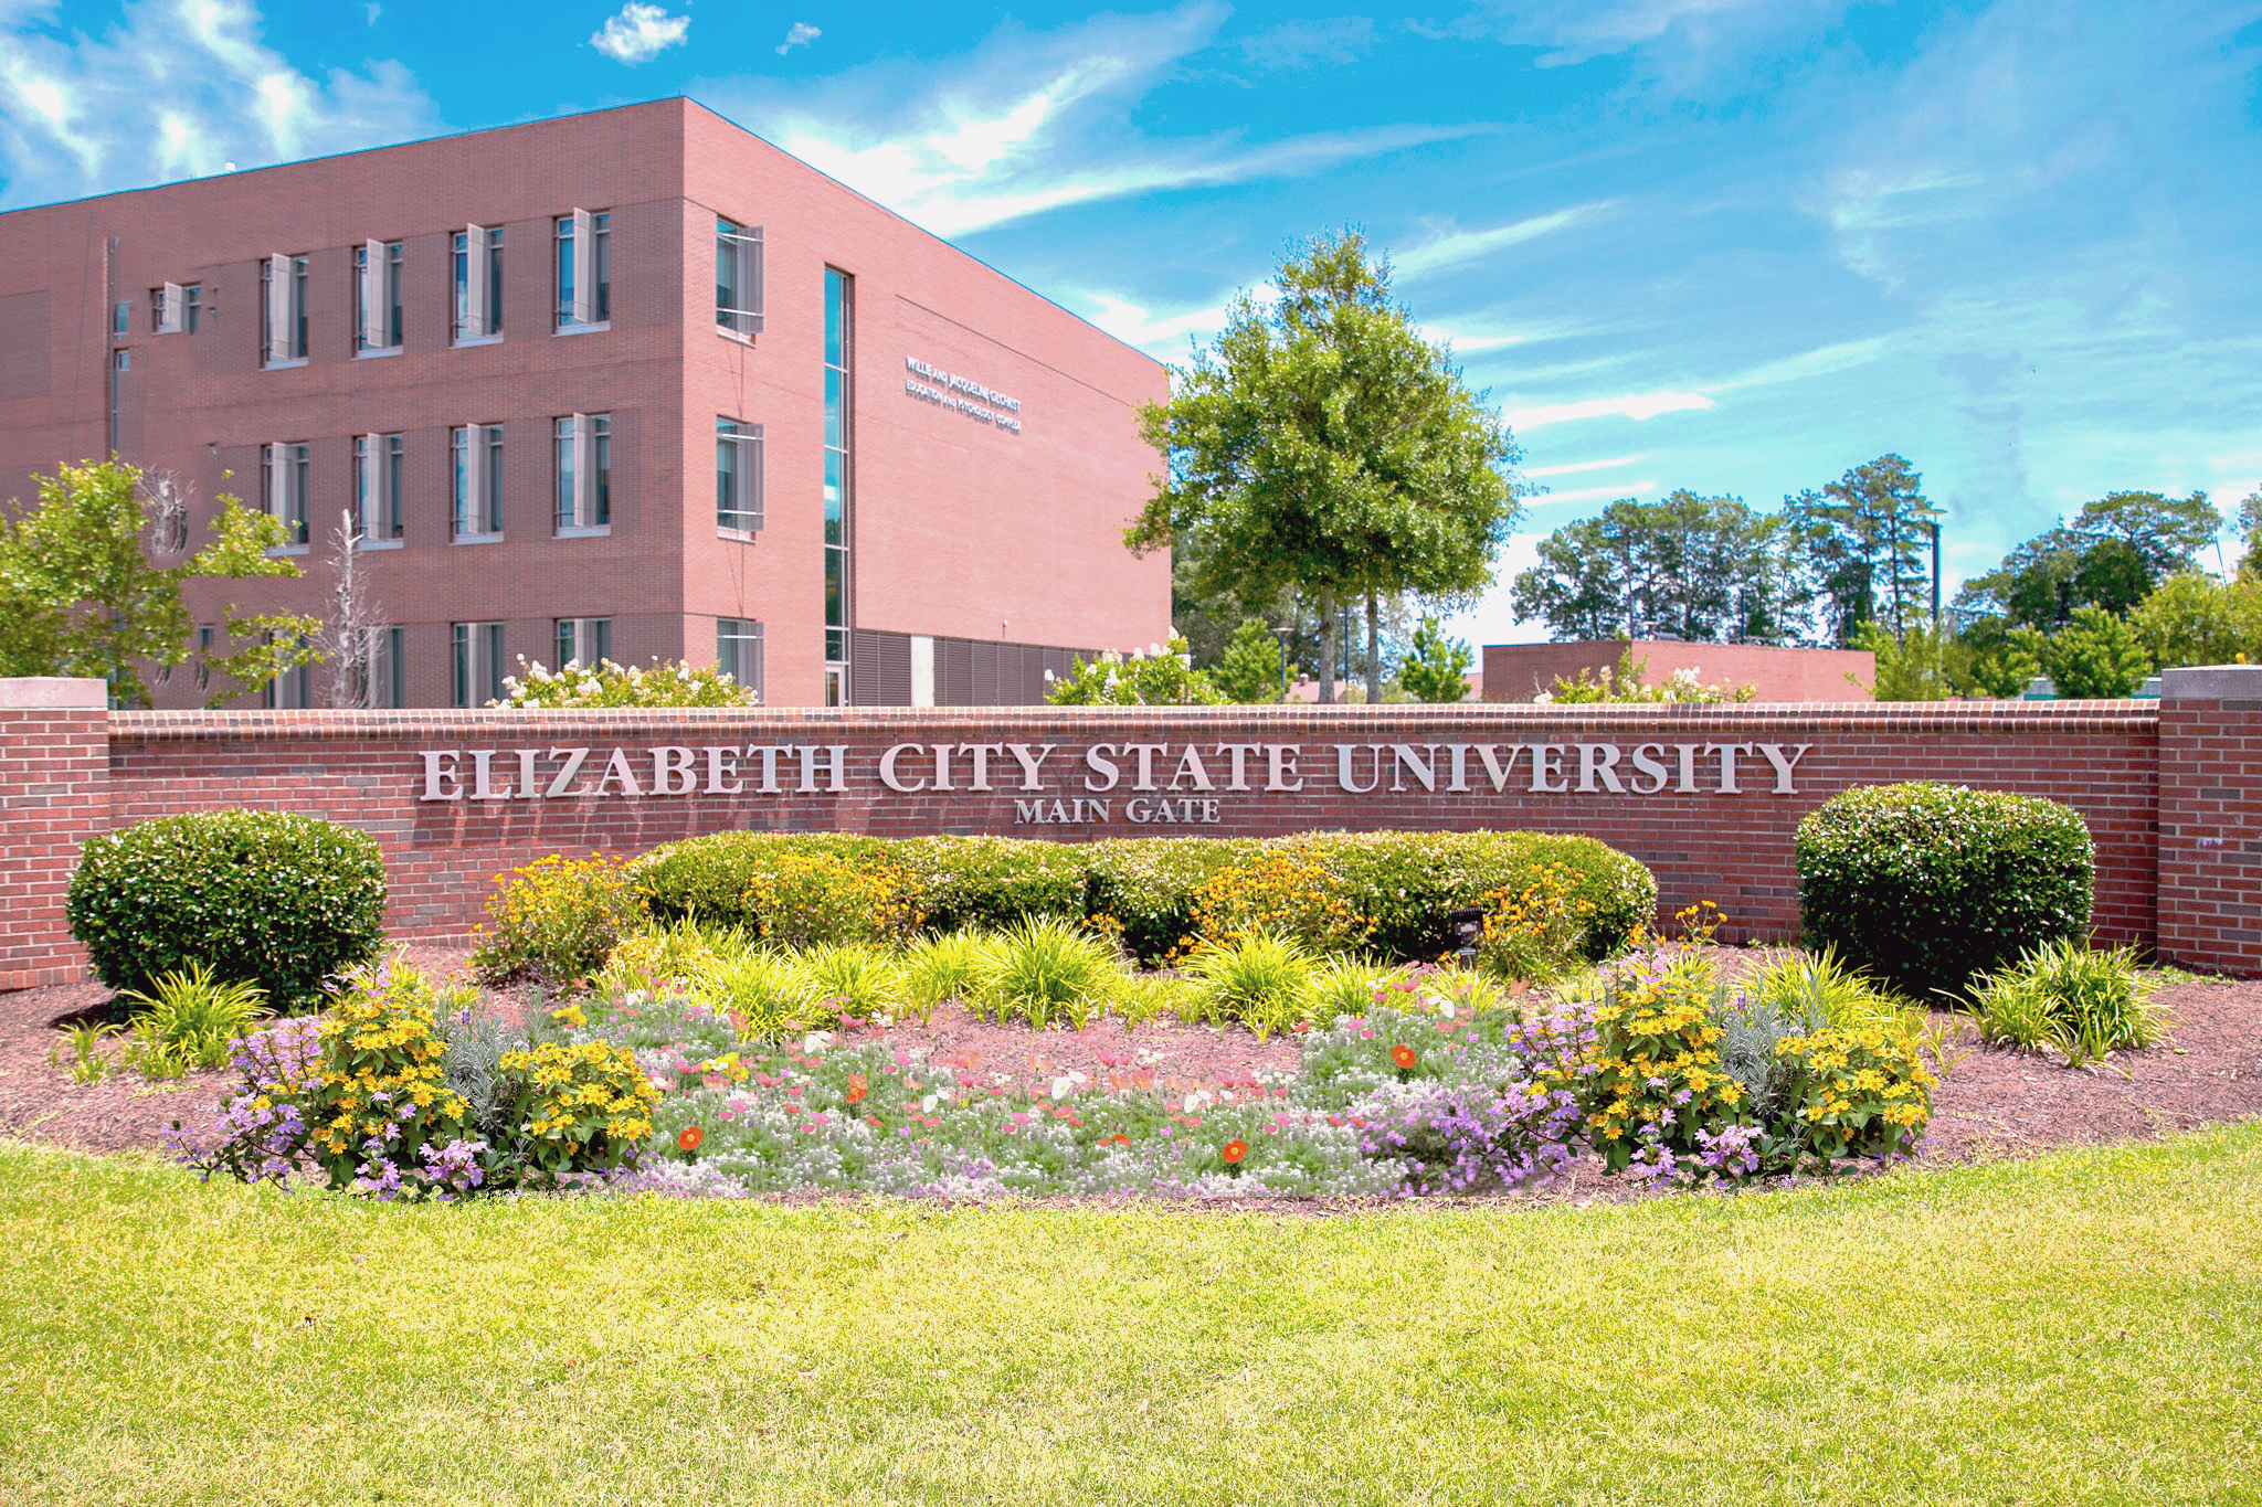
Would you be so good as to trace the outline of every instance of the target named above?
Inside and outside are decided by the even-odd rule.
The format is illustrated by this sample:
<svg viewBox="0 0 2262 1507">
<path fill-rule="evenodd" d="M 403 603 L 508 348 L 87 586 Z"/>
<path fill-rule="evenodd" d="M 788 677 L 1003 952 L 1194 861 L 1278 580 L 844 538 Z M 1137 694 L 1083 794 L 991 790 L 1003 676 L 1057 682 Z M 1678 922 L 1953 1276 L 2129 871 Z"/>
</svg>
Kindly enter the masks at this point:
<svg viewBox="0 0 2262 1507">
<path fill-rule="evenodd" d="M 2262 974 L 2262 664 L 2160 676 L 2160 958 Z"/>
</svg>

